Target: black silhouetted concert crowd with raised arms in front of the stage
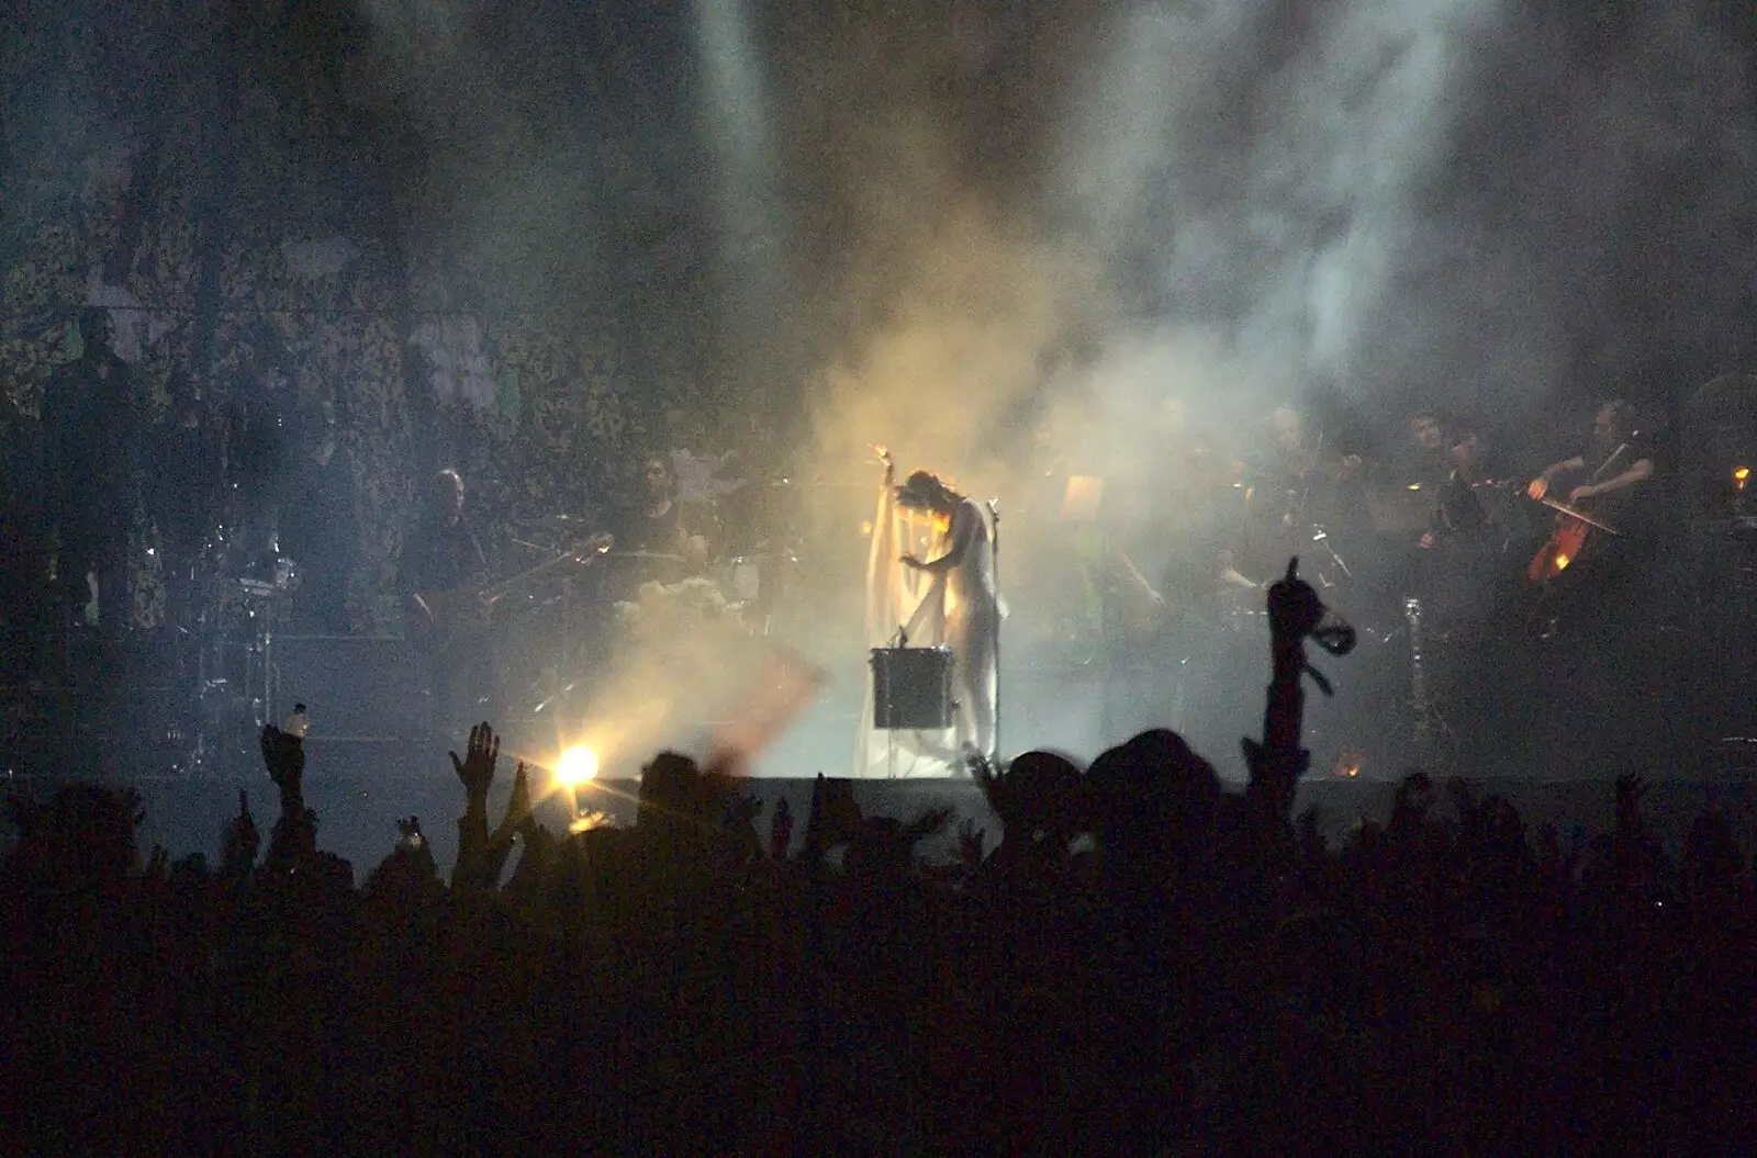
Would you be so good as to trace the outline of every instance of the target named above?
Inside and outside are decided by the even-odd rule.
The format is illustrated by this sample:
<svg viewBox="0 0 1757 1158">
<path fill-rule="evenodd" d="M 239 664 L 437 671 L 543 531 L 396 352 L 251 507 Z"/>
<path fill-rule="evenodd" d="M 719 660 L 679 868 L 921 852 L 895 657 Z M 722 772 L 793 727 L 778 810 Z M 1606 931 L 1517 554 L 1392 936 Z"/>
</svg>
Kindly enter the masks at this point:
<svg viewBox="0 0 1757 1158">
<path fill-rule="evenodd" d="M 135 847 L 139 800 L 14 796 L 0 879 L 0 1149 L 35 1154 L 1599 1154 L 1752 1137 L 1753 872 L 1718 814 L 1673 863 L 1529 833 L 1407 777 L 1332 849 L 1293 815 L 1305 643 L 1269 594 L 1263 731 L 1223 789 L 1170 731 L 973 775 L 996 817 L 929 863 L 819 778 L 659 754 L 631 828 L 488 794 L 459 856 L 416 817 L 355 886 L 304 743 L 262 731 L 218 865 Z M 1321 677 L 1316 677 L 1321 680 Z"/>
</svg>

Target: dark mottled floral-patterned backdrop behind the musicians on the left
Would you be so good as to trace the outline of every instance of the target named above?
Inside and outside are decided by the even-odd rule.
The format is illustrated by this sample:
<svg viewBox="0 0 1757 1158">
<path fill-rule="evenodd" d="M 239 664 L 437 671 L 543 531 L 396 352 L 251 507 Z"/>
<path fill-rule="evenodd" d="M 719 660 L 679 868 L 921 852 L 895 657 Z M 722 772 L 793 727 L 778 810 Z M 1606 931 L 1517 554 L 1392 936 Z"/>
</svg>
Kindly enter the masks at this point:
<svg viewBox="0 0 1757 1158">
<path fill-rule="evenodd" d="M 33 134 L 7 130 L 0 153 L 7 174 L 32 174 L 0 234 L 0 450 L 18 510 L 40 476 L 44 383 L 77 357 L 86 304 L 121 323 L 148 432 L 177 383 L 213 416 L 235 404 L 334 413 L 362 496 L 355 631 L 395 622 L 395 559 L 432 469 L 464 473 L 495 554 L 548 515 L 604 515 L 643 446 L 712 450 L 729 427 L 698 353 L 655 348 L 613 311 L 559 323 L 466 300 L 445 253 L 411 241 L 427 192 L 385 181 L 369 118 L 334 76 L 265 51 L 257 9 L 239 12 L 253 63 L 235 91 L 223 70 L 170 83 L 176 69 L 111 67 L 134 60 L 127 39 L 93 44 L 54 21 L 37 33 L 58 62 L 44 97 L 54 114 Z M 199 44 L 183 51 L 202 60 Z M 135 613 L 151 626 L 156 529 L 144 508 L 137 524 Z"/>
</svg>

